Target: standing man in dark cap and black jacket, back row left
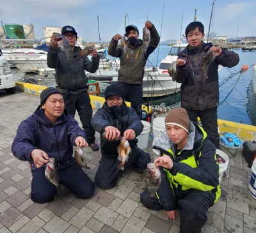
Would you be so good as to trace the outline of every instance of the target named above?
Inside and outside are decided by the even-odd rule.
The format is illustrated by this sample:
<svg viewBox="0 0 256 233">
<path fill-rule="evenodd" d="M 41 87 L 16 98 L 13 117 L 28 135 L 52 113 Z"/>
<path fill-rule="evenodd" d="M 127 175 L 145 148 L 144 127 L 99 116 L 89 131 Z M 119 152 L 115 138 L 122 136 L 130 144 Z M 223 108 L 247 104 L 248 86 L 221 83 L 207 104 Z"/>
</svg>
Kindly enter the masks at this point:
<svg viewBox="0 0 256 233">
<path fill-rule="evenodd" d="M 51 46 L 47 54 L 47 65 L 56 70 L 55 80 L 64 96 L 65 109 L 68 114 L 75 116 L 76 110 L 79 114 L 84 132 L 88 137 L 89 146 L 93 151 L 98 151 L 99 146 L 95 144 L 95 130 L 90 121 L 92 119 L 92 105 L 88 95 L 88 78 L 84 70 L 94 73 L 99 68 L 99 56 L 94 49 L 92 61 L 88 57 L 78 59 L 81 52 L 80 47 L 76 47 L 77 33 L 74 27 L 65 26 L 61 34 L 67 38 L 71 49 L 74 51 L 74 63 L 68 61 L 65 54 L 58 48 L 58 40 L 55 36 L 51 38 Z M 78 61 L 77 61 L 78 60 Z"/>
</svg>

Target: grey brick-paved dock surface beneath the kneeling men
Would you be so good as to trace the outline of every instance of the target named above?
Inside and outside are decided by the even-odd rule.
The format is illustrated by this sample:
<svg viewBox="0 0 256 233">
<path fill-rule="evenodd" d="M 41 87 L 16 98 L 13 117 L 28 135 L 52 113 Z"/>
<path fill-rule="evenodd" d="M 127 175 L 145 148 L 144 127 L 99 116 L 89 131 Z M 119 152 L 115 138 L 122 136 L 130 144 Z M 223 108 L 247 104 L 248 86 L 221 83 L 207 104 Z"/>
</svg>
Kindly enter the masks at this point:
<svg viewBox="0 0 256 233">
<path fill-rule="evenodd" d="M 39 96 L 33 94 L 0 91 L 0 233 L 179 232 L 179 216 L 173 222 L 164 211 L 150 211 L 140 204 L 146 172 L 125 170 L 118 186 L 106 191 L 97 188 L 89 200 L 77 199 L 63 188 L 51 204 L 33 203 L 29 198 L 32 177 L 28 162 L 13 157 L 11 146 L 20 122 L 35 112 L 39 103 Z M 80 123 L 77 115 L 76 119 Z M 151 144 L 152 140 L 146 150 L 150 154 Z M 91 167 L 86 173 L 94 179 L 100 152 L 86 151 Z M 248 193 L 251 169 L 241 150 L 229 159 L 221 198 L 211 207 L 203 232 L 256 232 L 256 200 Z"/>
</svg>

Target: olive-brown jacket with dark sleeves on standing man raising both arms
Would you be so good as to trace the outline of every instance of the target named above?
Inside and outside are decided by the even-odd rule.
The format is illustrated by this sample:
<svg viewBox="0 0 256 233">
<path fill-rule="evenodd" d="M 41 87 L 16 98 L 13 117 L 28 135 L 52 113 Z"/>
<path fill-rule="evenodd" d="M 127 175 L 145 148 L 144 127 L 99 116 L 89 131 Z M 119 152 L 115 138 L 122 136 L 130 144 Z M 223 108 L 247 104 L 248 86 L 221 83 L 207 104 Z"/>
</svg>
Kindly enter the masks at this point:
<svg viewBox="0 0 256 233">
<path fill-rule="evenodd" d="M 120 69 L 118 70 L 118 81 L 129 84 L 142 84 L 144 77 L 144 66 L 148 56 L 156 49 L 160 37 L 156 27 L 153 25 L 150 29 L 150 43 L 147 51 L 141 49 L 143 43 L 141 40 L 134 47 L 128 47 L 124 52 L 124 47 L 118 45 L 114 38 L 109 43 L 108 54 L 113 57 L 120 57 Z"/>
</svg>

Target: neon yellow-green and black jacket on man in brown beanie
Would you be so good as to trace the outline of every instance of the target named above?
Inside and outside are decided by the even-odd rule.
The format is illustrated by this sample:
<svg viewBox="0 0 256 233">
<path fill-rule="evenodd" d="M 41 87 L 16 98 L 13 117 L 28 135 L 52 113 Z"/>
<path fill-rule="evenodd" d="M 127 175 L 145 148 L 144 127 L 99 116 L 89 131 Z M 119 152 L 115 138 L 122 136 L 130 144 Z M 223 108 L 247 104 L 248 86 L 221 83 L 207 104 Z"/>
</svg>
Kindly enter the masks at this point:
<svg viewBox="0 0 256 233">
<path fill-rule="evenodd" d="M 172 169 L 163 169 L 168 178 L 163 180 L 168 181 L 169 186 L 162 183 L 164 188 L 159 188 L 156 193 L 166 211 L 176 209 L 176 197 L 182 199 L 190 192 L 202 192 L 202 195 L 212 200 L 212 205 L 217 202 L 221 190 L 216 147 L 207 139 L 207 133 L 201 126 L 190 121 L 188 141 L 179 153 L 175 153 L 175 146 L 166 132 L 153 148 L 173 160 Z"/>
</svg>

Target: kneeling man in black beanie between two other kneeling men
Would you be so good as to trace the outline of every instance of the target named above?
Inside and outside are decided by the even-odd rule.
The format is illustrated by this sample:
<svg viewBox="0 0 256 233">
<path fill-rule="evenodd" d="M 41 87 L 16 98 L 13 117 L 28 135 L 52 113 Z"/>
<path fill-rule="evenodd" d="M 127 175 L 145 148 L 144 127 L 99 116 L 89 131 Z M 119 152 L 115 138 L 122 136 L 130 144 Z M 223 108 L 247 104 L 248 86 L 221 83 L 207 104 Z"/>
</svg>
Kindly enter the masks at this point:
<svg viewBox="0 0 256 233">
<path fill-rule="evenodd" d="M 150 155 L 137 147 L 136 137 L 143 131 L 143 124 L 135 110 L 125 105 L 122 87 L 116 84 L 108 86 L 105 99 L 103 107 L 92 118 L 92 126 L 100 135 L 105 132 L 108 139 L 101 137 L 102 158 L 95 176 L 95 184 L 100 188 L 109 189 L 116 185 L 120 172 L 117 168 L 120 163 L 117 159 L 120 140 L 115 140 L 116 138 L 125 137 L 132 149 L 125 168 L 133 167 L 136 172 L 143 172 L 147 163 L 150 163 Z"/>
</svg>

